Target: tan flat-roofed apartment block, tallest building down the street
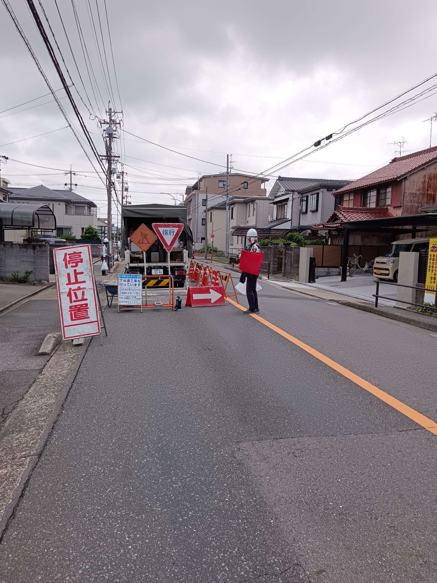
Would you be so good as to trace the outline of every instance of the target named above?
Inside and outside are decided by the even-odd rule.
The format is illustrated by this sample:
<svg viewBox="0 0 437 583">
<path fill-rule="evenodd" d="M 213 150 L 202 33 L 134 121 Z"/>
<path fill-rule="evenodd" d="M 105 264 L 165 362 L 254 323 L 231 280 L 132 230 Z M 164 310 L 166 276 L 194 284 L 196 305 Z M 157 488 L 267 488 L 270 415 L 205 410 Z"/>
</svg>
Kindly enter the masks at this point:
<svg viewBox="0 0 437 583">
<path fill-rule="evenodd" d="M 264 188 L 267 178 L 254 178 L 249 174 L 235 173 L 229 175 L 230 195 L 238 193 L 247 196 L 266 196 Z M 193 232 L 195 249 L 205 244 L 206 227 L 206 194 L 208 207 L 223 202 L 226 196 L 226 174 L 208 174 L 199 177 L 191 186 L 185 189 L 185 204 L 188 226 Z"/>
</svg>

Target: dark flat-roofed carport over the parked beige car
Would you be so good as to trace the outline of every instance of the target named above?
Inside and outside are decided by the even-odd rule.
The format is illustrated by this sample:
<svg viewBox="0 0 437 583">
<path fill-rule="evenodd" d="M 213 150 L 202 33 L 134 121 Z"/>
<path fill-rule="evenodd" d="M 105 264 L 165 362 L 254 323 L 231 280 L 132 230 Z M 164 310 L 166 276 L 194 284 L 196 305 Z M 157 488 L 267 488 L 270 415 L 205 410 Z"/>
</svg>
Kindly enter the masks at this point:
<svg viewBox="0 0 437 583">
<path fill-rule="evenodd" d="M 398 238 L 401 234 L 411 234 L 411 237 L 414 238 L 417 233 L 427 231 L 428 227 L 432 226 L 437 226 L 437 213 L 357 220 L 344 223 L 341 281 L 346 282 L 349 237 L 351 233 L 356 233 L 357 231 L 361 231 L 361 233 L 392 233 L 394 239 Z"/>
</svg>

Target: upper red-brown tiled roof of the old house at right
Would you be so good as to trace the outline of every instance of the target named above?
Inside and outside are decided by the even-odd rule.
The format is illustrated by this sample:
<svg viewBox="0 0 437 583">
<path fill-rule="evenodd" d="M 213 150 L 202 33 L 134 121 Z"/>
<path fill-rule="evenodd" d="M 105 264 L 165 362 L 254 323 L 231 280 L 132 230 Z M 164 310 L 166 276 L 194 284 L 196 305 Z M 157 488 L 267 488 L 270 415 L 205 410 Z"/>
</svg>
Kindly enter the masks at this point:
<svg viewBox="0 0 437 583">
<path fill-rule="evenodd" d="M 437 146 L 427 148 L 426 150 L 420 150 L 420 152 L 413 152 L 413 154 L 408 154 L 407 156 L 393 158 L 387 166 L 383 166 L 370 174 L 366 174 L 359 180 L 351 182 L 347 186 L 337 190 L 337 193 L 351 192 L 358 188 L 380 184 L 381 182 L 387 182 L 389 180 L 396 180 L 396 178 L 410 174 L 434 160 L 437 160 Z"/>
</svg>

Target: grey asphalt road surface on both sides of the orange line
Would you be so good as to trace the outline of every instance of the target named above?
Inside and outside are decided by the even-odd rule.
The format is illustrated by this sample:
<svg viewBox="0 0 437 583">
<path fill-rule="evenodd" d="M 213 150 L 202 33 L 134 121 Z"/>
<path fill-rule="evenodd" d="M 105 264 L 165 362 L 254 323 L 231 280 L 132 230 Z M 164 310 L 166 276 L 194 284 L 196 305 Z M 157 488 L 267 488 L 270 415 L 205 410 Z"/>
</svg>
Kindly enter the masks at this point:
<svg viewBox="0 0 437 583">
<path fill-rule="evenodd" d="M 264 318 L 437 418 L 434 335 L 263 287 Z M 0 581 L 437 581 L 437 437 L 233 305 L 105 316 Z"/>
</svg>

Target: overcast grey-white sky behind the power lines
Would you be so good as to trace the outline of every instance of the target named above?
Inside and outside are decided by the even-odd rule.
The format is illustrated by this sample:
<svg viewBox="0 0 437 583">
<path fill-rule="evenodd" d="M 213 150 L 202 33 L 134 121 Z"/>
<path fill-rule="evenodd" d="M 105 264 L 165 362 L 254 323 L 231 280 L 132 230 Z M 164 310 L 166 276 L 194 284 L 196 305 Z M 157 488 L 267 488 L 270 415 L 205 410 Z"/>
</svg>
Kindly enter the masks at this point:
<svg viewBox="0 0 437 583">
<path fill-rule="evenodd" d="M 126 153 L 125 170 L 133 204 L 171 203 L 170 196 L 159 193 L 181 197 L 198 173 L 224 170 L 226 153 L 232 154 L 235 171 L 266 170 L 437 72 L 437 3 L 433 0 L 107 0 L 120 104 L 104 0 L 97 1 L 113 106 L 119 111 L 122 104 L 124 128 L 205 160 L 193 160 L 125 134 L 124 144 L 117 140 L 117 149 Z M 41 2 L 75 86 L 90 107 L 55 2 Z M 75 0 L 97 79 L 98 91 L 94 89 L 94 93 L 104 115 L 101 100 L 107 107 L 109 97 L 98 61 L 90 7 L 104 68 L 105 56 L 96 2 L 87 2 Z M 38 2 L 36 5 L 49 31 Z M 59 89 L 61 82 L 26 2 L 14 0 L 12 6 L 52 86 Z M 58 6 L 91 104 L 100 116 L 84 65 L 72 3 L 58 0 Z M 20 162 L 59 168 L 48 170 L 8 161 L 6 166 L 2 164 L 2 176 L 16 186 L 44 184 L 62 188 L 66 181 L 62 170 L 72 164 L 79 174 L 75 177 L 77 192 L 95 201 L 99 213 L 105 215 L 104 186 L 71 129 L 3 145 L 63 128 L 66 123 L 53 101 L 33 107 L 50 101 L 51 96 L 9 109 L 43 96 L 48 89 L 3 5 L 0 21 L 0 111 L 8 110 L 0 113 L 0 154 Z M 407 151 L 428 147 L 429 122 L 423 120 L 437 110 L 437 94 L 432 93 L 429 99 L 314 152 L 280 174 L 354 180 L 392 159 L 397 146 L 390 142 L 403 136 Z M 64 97 L 64 90 L 58 96 Z M 73 92 L 73 96 L 98 150 L 103 152 L 100 127 L 89 119 L 77 93 Z M 68 100 L 61 99 L 61 103 L 78 127 Z M 29 107 L 33 108 L 23 111 Z M 437 123 L 434 135 L 432 145 L 437 145 Z M 274 177 L 270 178 L 269 188 L 273 183 Z"/>
</svg>

